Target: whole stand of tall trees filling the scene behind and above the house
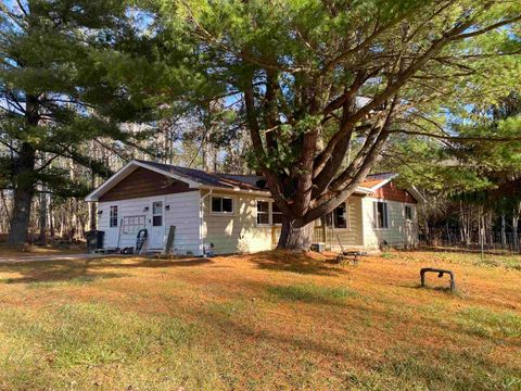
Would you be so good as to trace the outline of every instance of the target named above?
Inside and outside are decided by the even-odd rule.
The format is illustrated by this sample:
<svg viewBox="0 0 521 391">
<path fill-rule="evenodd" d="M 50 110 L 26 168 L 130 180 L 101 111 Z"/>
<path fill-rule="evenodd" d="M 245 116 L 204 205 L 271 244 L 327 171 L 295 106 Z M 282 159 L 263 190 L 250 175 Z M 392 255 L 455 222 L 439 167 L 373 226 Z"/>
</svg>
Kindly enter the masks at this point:
<svg viewBox="0 0 521 391">
<path fill-rule="evenodd" d="M 0 228 L 80 238 L 82 195 L 132 157 L 264 175 L 284 248 L 380 169 L 436 199 L 425 232 L 458 202 L 513 224 L 520 21 L 499 0 L 4 2 Z"/>
</svg>

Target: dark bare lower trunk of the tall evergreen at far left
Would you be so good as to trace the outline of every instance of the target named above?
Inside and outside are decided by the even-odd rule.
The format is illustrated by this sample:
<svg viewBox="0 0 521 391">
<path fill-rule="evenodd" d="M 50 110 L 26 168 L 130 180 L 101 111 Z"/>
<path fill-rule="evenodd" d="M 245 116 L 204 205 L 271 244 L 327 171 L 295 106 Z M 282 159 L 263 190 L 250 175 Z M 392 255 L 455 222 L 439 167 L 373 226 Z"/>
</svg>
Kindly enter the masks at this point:
<svg viewBox="0 0 521 391">
<path fill-rule="evenodd" d="M 15 162 L 16 189 L 14 190 L 14 206 L 11 217 L 11 229 L 8 243 L 22 244 L 27 242 L 30 203 L 35 193 L 33 171 L 35 169 L 35 150 L 24 142 Z"/>
</svg>

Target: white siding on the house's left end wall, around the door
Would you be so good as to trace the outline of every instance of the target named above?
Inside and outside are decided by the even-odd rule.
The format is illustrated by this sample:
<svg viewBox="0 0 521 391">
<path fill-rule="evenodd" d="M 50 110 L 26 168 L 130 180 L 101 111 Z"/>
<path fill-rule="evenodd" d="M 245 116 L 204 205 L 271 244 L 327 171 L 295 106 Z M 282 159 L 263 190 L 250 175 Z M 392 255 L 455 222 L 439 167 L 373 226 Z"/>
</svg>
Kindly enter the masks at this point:
<svg viewBox="0 0 521 391">
<path fill-rule="evenodd" d="M 120 222 L 126 216 L 145 216 L 145 227 L 152 224 L 152 201 L 163 201 L 163 248 L 166 243 L 169 226 L 176 226 L 174 250 L 179 254 L 191 252 L 201 255 L 200 220 L 199 220 L 199 191 L 183 193 L 143 197 L 132 200 L 100 202 L 99 229 L 105 231 L 104 248 L 125 248 L 136 245 L 136 234 L 123 234 Z M 118 227 L 109 227 L 110 206 L 118 205 Z M 169 210 L 166 210 L 166 206 Z M 148 207 L 148 211 L 144 209 Z M 119 236 L 119 243 L 118 243 Z M 145 244 L 145 249 L 148 245 Z"/>
</svg>

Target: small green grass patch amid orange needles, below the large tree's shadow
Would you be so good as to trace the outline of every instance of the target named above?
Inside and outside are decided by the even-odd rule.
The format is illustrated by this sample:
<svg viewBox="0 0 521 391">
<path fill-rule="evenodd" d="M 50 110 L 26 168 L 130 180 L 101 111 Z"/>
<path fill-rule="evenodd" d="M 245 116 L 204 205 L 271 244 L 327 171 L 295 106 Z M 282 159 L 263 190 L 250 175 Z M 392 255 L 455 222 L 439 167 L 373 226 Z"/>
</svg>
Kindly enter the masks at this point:
<svg viewBox="0 0 521 391">
<path fill-rule="evenodd" d="M 274 286 L 267 290 L 278 299 L 306 303 L 342 303 L 348 298 L 359 295 L 358 292 L 344 287 L 323 287 L 315 283 Z"/>
</svg>

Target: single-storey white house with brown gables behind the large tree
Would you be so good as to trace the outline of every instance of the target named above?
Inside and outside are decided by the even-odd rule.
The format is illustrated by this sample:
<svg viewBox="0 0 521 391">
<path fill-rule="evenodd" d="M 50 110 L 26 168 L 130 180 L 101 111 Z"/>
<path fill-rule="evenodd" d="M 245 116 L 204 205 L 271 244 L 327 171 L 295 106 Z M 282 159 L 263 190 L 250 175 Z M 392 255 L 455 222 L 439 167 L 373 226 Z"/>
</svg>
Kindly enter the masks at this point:
<svg viewBox="0 0 521 391">
<path fill-rule="evenodd" d="M 338 250 L 415 247 L 418 242 L 415 190 L 398 189 L 395 174 L 367 177 L 333 213 L 315 223 L 315 241 Z M 200 169 L 134 160 L 93 190 L 99 229 L 105 249 L 134 247 L 136 235 L 148 229 L 143 249 L 203 255 L 256 252 L 276 247 L 281 213 L 263 187 L 262 177 L 208 173 Z"/>
</svg>

